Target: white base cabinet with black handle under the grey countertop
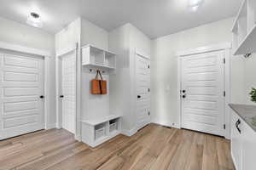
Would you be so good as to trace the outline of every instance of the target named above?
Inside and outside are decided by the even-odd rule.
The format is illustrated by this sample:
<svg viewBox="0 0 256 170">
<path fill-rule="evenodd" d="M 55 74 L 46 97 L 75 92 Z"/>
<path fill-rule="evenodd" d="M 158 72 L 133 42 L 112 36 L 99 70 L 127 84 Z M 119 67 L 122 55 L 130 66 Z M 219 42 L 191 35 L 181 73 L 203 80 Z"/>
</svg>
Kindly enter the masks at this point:
<svg viewBox="0 0 256 170">
<path fill-rule="evenodd" d="M 255 170 L 256 132 L 234 111 L 231 115 L 231 155 L 236 170 Z"/>
</svg>

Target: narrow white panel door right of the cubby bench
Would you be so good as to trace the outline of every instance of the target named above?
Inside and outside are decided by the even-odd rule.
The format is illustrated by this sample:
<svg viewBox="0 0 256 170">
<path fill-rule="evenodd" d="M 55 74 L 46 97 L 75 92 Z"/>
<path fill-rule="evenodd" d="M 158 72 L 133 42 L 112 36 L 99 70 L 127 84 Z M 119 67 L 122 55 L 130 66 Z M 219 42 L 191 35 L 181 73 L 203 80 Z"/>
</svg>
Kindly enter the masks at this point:
<svg viewBox="0 0 256 170">
<path fill-rule="evenodd" d="M 150 122 L 150 60 L 136 55 L 137 129 Z"/>
</svg>

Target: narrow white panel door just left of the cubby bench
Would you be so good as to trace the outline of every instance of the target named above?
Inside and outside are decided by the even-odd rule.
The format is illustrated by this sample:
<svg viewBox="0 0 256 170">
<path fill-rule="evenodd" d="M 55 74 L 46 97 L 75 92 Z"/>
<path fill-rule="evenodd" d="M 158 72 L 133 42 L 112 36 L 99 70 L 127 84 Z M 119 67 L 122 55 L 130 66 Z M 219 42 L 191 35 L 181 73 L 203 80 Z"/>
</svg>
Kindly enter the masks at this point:
<svg viewBox="0 0 256 170">
<path fill-rule="evenodd" d="M 76 54 L 62 57 L 62 128 L 75 133 L 76 121 Z"/>
</svg>

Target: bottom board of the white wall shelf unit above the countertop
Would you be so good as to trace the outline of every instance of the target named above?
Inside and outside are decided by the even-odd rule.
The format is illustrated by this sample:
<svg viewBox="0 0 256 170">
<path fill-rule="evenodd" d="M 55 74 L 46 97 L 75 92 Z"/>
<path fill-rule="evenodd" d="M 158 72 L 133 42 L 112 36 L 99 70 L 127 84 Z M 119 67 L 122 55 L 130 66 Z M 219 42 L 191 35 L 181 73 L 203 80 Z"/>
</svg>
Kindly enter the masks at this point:
<svg viewBox="0 0 256 170">
<path fill-rule="evenodd" d="M 256 52 L 256 24 L 236 48 L 234 55 Z"/>
</svg>

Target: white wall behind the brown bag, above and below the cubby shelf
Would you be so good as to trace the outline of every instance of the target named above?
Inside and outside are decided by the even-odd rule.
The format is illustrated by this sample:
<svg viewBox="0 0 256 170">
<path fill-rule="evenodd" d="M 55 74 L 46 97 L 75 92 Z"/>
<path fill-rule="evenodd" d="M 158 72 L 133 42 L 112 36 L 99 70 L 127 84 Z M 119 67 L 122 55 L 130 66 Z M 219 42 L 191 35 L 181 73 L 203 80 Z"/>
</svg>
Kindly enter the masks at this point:
<svg viewBox="0 0 256 170">
<path fill-rule="evenodd" d="M 108 50 L 108 31 L 105 31 L 88 20 L 81 19 L 81 46 L 87 44 Z M 90 73 L 88 69 L 82 66 L 81 77 L 81 118 L 94 119 L 108 116 L 109 91 L 106 95 L 90 94 L 90 80 L 96 77 L 96 72 Z M 109 79 L 108 74 L 102 75 L 102 77 L 107 81 Z M 108 86 L 111 86 L 111 82 L 109 81 Z"/>
</svg>

